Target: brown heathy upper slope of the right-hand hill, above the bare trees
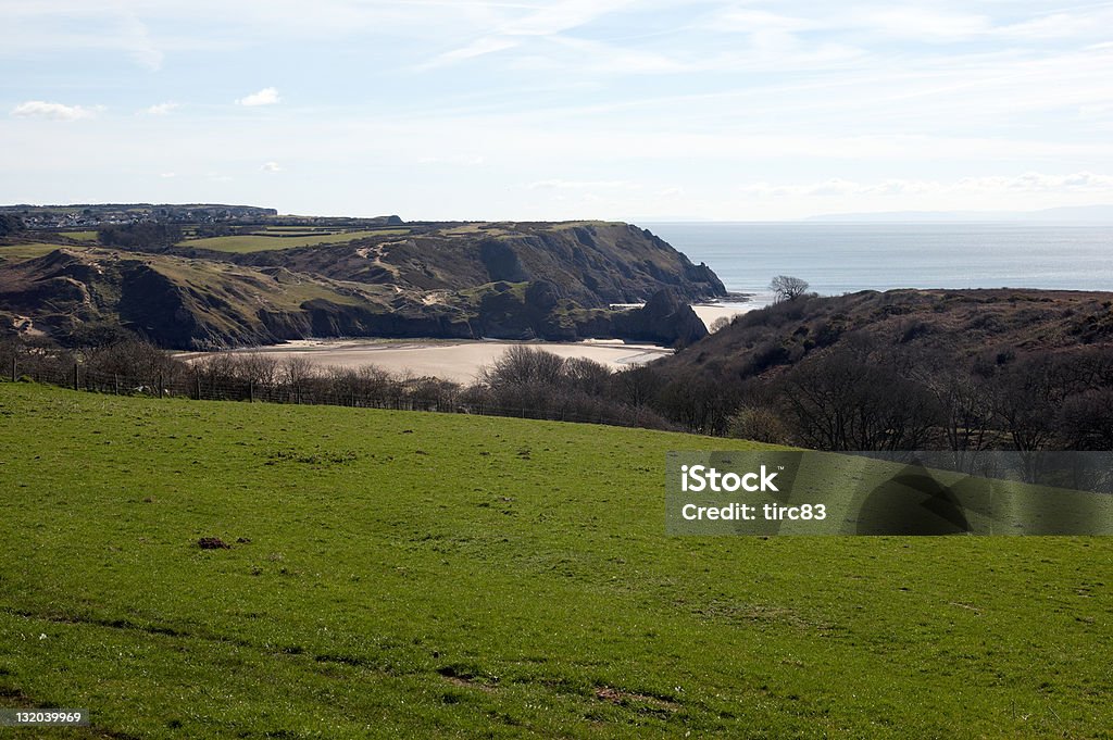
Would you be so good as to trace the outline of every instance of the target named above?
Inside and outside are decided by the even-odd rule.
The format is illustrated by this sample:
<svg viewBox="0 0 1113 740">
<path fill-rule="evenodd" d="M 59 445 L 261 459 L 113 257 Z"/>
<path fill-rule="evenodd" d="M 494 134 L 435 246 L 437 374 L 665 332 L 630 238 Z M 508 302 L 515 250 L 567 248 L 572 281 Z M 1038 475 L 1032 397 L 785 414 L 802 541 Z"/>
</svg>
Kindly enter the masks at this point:
<svg viewBox="0 0 1113 740">
<path fill-rule="evenodd" d="M 930 367 L 1109 347 L 1113 293 L 1001 288 L 805 296 L 743 314 L 663 365 L 673 373 L 739 381 L 863 345 L 895 348 Z"/>
</svg>

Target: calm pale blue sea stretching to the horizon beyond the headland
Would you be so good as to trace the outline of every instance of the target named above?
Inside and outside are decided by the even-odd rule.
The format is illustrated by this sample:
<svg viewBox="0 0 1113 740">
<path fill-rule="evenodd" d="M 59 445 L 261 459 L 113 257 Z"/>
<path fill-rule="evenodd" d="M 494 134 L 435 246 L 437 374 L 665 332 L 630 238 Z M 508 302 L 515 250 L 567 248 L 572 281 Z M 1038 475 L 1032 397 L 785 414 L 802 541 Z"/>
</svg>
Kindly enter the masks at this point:
<svg viewBox="0 0 1113 740">
<path fill-rule="evenodd" d="M 824 295 L 892 288 L 1113 290 L 1111 224 L 640 223 L 727 289 L 768 298 L 775 275 Z"/>
</svg>

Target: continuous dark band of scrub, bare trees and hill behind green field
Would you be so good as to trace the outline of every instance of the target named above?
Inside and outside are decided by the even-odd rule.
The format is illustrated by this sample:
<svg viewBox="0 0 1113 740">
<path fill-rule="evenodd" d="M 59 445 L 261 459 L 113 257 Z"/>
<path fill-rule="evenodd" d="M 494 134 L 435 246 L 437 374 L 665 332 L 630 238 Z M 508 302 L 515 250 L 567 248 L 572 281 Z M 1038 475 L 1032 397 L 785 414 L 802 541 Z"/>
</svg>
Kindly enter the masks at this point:
<svg viewBox="0 0 1113 740">
<path fill-rule="evenodd" d="M 523 344 L 471 384 L 253 353 L 187 365 L 137 342 L 83 349 L 8 342 L 0 368 L 14 363 L 32 378 L 111 392 L 585 421 L 827 451 L 1110 450 L 1111 298 L 802 296 L 741 315 L 649 365 L 615 372 Z"/>
</svg>

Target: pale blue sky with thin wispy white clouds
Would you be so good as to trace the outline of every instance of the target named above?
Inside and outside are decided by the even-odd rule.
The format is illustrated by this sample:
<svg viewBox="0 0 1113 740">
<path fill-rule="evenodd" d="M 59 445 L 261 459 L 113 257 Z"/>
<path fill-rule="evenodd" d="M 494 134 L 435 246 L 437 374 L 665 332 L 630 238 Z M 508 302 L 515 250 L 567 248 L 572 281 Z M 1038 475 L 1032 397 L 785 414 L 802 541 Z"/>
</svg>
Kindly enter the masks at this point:
<svg viewBox="0 0 1113 740">
<path fill-rule="evenodd" d="M 0 203 L 1113 203 L 1113 2 L 0 0 Z"/>
</svg>

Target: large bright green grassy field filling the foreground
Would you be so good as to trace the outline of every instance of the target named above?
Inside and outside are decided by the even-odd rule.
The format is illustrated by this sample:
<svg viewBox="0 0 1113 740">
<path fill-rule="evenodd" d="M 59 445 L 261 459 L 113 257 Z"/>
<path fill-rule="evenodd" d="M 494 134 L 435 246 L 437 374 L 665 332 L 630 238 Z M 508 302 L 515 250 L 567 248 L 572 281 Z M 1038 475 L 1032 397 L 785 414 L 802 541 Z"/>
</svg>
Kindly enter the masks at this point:
<svg viewBox="0 0 1113 740">
<path fill-rule="evenodd" d="M 0 703 L 88 738 L 1113 737 L 1113 542 L 666 536 L 666 452 L 745 447 L 0 383 Z"/>
</svg>

